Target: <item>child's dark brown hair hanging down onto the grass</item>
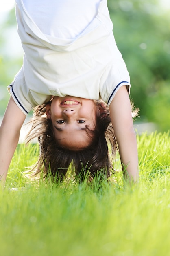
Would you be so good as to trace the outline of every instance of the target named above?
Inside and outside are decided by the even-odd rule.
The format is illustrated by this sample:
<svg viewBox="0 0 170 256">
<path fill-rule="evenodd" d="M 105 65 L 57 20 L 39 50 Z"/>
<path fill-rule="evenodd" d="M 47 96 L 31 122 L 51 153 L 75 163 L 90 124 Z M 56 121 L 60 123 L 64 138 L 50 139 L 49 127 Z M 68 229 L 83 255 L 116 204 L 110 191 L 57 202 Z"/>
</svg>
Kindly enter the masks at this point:
<svg viewBox="0 0 170 256">
<path fill-rule="evenodd" d="M 95 175 L 108 179 L 113 171 L 112 159 L 118 146 L 107 104 L 102 100 L 94 101 L 102 108 L 102 114 L 96 117 L 94 130 L 86 128 L 87 134 L 92 138 L 91 144 L 82 150 L 70 150 L 60 146 L 54 138 L 52 122 L 46 116 L 46 105 L 50 102 L 34 109 L 32 128 L 26 137 L 26 143 L 38 138 L 40 148 L 39 159 L 31 169 L 34 170 L 32 175 L 43 173 L 43 177 L 46 177 L 50 174 L 61 182 L 72 164 L 72 170 L 79 181 L 85 180 L 85 177 L 91 181 Z M 138 109 L 133 111 L 132 102 L 131 106 L 132 116 L 135 116 Z"/>
</svg>

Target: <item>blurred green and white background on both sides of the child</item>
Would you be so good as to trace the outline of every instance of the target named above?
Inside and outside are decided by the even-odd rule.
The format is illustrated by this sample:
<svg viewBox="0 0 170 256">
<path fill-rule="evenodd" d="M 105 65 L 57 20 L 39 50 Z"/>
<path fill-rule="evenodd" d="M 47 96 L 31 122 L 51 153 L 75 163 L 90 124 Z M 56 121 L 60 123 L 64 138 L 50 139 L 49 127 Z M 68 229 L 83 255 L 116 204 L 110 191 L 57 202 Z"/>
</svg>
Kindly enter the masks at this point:
<svg viewBox="0 0 170 256">
<path fill-rule="evenodd" d="M 116 43 L 131 76 L 131 98 L 140 109 L 137 123 L 170 129 L 170 3 L 168 0 L 108 0 Z M 22 65 L 15 9 L 0 17 L 0 116 Z M 147 126 L 148 127 L 148 126 Z M 147 129 L 147 128 L 146 128 Z"/>
</svg>

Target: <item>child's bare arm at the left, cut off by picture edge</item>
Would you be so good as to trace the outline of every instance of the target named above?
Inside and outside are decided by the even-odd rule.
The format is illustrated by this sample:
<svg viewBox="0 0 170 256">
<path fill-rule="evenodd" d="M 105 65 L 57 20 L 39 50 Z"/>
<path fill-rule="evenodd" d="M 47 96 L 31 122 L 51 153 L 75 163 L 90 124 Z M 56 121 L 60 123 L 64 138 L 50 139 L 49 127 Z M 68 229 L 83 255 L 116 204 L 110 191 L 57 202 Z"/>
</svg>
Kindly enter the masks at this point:
<svg viewBox="0 0 170 256">
<path fill-rule="evenodd" d="M 0 127 L 0 185 L 5 182 L 25 118 L 26 115 L 11 97 Z"/>
</svg>

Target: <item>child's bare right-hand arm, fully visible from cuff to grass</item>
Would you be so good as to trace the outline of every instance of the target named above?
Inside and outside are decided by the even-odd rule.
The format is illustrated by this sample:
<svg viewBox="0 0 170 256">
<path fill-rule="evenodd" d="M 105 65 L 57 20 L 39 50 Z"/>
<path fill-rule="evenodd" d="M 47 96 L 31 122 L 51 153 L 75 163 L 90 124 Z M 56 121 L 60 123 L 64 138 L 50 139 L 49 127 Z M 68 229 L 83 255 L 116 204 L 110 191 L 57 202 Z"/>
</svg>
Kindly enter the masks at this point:
<svg viewBox="0 0 170 256">
<path fill-rule="evenodd" d="M 138 180 L 138 154 L 136 135 L 133 129 L 131 104 L 126 86 L 116 92 L 110 106 L 111 122 L 118 143 L 125 180 Z M 124 171 L 124 167 L 126 171 Z"/>
</svg>

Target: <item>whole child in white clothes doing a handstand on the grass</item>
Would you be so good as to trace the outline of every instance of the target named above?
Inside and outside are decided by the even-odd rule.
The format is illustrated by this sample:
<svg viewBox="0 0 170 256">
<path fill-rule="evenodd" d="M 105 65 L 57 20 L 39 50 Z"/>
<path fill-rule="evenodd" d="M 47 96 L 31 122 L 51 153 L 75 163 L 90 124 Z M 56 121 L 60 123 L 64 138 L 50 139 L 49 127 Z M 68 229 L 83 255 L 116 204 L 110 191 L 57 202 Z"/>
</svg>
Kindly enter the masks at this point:
<svg viewBox="0 0 170 256">
<path fill-rule="evenodd" d="M 102 168 L 108 177 L 109 131 L 114 149 L 118 143 L 124 177 L 136 182 L 131 85 L 114 40 L 107 0 L 16 0 L 16 17 L 24 59 L 8 86 L 11 98 L 0 128 L 2 181 L 24 119 L 37 106 L 28 135 L 28 141 L 39 137 L 37 172 L 44 166 L 46 174 L 50 165 L 53 175 L 62 179 L 73 159 L 76 174 L 87 164 L 92 176 Z M 100 98 L 109 111 L 105 103 L 95 101 Z"/>
</svg>

